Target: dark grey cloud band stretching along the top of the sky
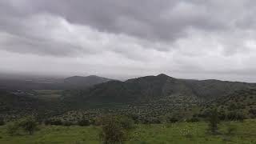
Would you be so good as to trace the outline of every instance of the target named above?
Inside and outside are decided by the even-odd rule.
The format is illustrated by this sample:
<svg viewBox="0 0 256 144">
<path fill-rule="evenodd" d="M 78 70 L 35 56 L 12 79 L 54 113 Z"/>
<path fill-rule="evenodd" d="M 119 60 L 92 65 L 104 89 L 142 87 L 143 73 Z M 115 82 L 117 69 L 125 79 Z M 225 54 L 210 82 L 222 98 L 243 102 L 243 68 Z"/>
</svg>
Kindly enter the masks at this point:
<svg viewBox="0 0 256 144">
<path fill-rule="evenodd" d="M 33 14 L 48 13 L 102 32 L 127 34 L 154 42 L 175 42 L 178 38 L 186 38 L 189 29 L 218 32 L 232 30 L 234 26 L 241 28 L 252 25 L 255 11 L 251 2 L 253 1 L 11 0 L 0 2 L 0 28 L 10 33 L 27 34 L 27 30 L 20 31 L 24 26 L 20 27 L 15 21 Z M 248 14 L 242 11 L 247 7 L 253 9 Z M 230 8 L 230 12 L 227 8 Z"/>
</svg>

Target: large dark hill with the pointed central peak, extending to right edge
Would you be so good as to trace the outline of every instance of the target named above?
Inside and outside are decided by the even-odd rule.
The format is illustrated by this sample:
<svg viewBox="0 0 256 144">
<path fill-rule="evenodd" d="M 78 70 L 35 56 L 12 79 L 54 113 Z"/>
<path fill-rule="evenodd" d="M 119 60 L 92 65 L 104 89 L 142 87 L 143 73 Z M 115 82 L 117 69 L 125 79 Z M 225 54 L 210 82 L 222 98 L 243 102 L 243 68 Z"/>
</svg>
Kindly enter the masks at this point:
<svg viewBox="0 0 256 144">
<path fill-rule="evenodd" d="M 255 88 L 256 84 L 218 80 L 186 80 L 159 74 L 133 78 L 125 82 L 109 81 L 85 90 L 66 91 L 63 99 L 76 103 L 168 103 L 210 102 L 237 90 Z"/>
</svg>

